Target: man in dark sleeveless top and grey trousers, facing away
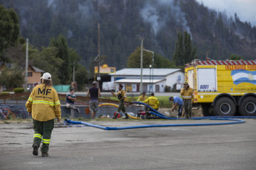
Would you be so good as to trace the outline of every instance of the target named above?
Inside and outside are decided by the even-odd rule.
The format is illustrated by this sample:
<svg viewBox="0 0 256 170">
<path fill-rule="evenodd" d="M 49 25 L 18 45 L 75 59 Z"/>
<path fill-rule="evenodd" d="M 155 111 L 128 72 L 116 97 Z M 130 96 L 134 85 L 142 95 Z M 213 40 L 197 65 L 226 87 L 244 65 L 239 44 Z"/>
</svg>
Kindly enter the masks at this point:
<svg viewBox="0 0 256 170">
<path fill-rule="evenodd" d="M 100 89 L 97 88 L 97 82 L 93 81 L 93 86 L 88 89 L 87 97 L 90 95 L 91 118 L 94 119 L 99 106 L 99 97 L 101 97 Z"/>
</svg>

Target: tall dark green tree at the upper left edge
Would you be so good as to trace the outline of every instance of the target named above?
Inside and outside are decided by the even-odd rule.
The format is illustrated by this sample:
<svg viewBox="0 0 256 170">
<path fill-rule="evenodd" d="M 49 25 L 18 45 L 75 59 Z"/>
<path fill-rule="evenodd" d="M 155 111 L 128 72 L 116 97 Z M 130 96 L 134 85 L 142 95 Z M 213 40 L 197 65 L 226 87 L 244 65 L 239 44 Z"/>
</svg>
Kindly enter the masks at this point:
<svg viewBox="0 0 256 170">
<path fill-rule="evenodd" d="M 0 6 L 0 54 L 7 47 L 14 46 L 19 38 L 19 17 L 13 9 Z"/>
</svg>

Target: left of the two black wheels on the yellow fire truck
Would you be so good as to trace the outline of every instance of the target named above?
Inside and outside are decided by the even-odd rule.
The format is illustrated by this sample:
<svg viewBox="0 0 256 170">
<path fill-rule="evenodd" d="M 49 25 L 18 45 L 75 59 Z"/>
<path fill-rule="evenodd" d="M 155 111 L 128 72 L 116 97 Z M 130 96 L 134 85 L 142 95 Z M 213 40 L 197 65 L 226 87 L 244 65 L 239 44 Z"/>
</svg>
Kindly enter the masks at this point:
<svg viewBox="0 0 256 170">
<path fill-rule="evenodd" d="M 233 116 L 235 114 L 236 107 L 234 101 L 231 98 L 222 97 L 217 99 L 213 111 L 214 115 L 218 116 Z"/>
</svg>

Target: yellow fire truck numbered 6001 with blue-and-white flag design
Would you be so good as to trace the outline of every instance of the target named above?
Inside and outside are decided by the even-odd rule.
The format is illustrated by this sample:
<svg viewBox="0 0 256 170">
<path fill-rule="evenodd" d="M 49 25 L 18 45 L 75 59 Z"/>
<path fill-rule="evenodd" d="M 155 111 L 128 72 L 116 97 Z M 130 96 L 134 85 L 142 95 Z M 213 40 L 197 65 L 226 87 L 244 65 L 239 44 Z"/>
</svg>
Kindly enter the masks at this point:
<svg viewBox="0 0 256 170">
<path fill-rule="evenodd" d="M 196 59 L 186 64 L 185 81 L 205 116 L 256 116 L 256 60 Z"/>
</svg>

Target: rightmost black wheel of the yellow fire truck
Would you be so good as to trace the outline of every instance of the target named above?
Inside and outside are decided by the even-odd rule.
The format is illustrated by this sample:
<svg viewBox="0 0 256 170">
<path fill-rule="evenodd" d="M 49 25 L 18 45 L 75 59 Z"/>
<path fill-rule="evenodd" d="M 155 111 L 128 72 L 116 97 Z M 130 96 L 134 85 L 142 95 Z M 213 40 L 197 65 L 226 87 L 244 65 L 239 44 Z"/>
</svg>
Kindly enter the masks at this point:
<svg viewBox="0 0 256 170">
<path fill-rule="evenodd" d="M 244 98 L 239 106 L 239 113 L 243 116 L 256 116 L 256 98 Z"/>
</svg>

